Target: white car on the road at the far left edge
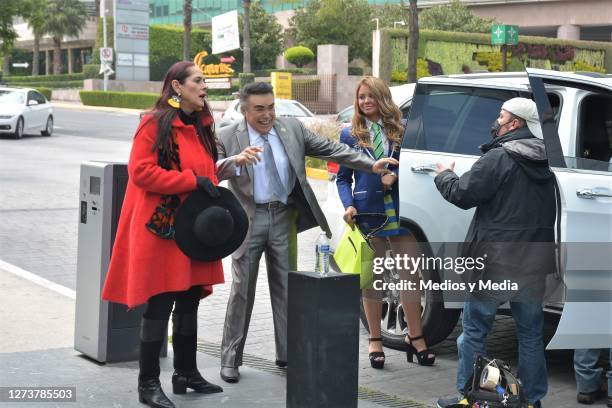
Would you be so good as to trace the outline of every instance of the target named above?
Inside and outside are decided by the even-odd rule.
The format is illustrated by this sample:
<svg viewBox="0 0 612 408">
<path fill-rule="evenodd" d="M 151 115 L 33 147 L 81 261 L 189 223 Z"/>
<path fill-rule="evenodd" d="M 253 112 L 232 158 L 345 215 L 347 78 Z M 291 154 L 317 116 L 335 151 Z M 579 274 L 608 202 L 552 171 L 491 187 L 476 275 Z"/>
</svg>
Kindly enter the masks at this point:
<svg viewBox="0 0 612 408">
<path fill-rule="evenodd" d="M 51 136 L 53 108 L 43 94 L 28 88 L 0 88 L 0 135 Z"/>
</svg>

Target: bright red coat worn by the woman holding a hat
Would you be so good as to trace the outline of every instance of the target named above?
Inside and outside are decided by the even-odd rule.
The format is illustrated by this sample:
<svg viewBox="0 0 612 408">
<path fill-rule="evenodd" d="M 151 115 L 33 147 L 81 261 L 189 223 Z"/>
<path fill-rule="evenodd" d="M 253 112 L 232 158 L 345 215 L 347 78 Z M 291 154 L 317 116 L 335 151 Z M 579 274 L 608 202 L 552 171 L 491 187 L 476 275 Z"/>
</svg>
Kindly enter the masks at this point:
<svg viewBox="0 0 612 408">
<path fill-rule="evenodd" d="M 134 136 L 129 181 L 121 209 L 117 236 L 102 298 L 135 307 L 156 294 L 203 285 L 202 297 L 223 283 L 221 261 L 199 262 L 188 258 L 174 240 L 157 237 L 145 224 L 160 203 L 161 194 L 178 194 L 181 201 L 196 189 L 196 175 L 218 184 L 213 158 L 199 142 L 195 128 L 178 118 L 177 135 L 182 171 L 164 170 L 152 151 L 157 121 L 145 116 Z"/>
</svg>

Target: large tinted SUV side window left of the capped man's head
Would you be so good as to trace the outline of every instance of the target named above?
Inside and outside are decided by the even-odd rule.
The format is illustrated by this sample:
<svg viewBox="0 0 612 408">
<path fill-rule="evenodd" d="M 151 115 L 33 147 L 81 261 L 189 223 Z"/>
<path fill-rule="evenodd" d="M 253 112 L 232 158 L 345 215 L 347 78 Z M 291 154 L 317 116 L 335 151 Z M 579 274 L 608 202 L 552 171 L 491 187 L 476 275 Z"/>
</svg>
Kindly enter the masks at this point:
<svg viewBox="0 0 612 408">
<path fill-rule="evenodd" d="M 404 147 L 480 155 L 502 104 L 517 92 L 441 85 L 419 85 L 410 109 Z"/>
</svg>

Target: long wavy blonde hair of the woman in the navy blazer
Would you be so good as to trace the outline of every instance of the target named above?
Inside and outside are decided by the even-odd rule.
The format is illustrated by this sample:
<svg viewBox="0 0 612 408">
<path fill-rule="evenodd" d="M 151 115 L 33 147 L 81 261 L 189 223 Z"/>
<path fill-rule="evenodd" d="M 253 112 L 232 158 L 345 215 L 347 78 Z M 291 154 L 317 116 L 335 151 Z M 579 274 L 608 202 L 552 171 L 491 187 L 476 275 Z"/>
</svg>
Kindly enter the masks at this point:
<svg viewBox="0 0 612 408">
<path fill-rule="evenodd" d="M 372 96 L 378 105 L 378 113 L 383 122 L 383 129 L 389 141 L 396 144 L 396 149 L 399 149 L 401 144 L 404 127 L 401 124 L 402 113 L 397 105 L 391 99 L 391 91 L 389 87 L 380 78 L 371 76 L 363 77 L 357 84 L 355 90 L 355 113 L 351 120 L 351 134 L 357 139 L 357 143 L 361 147 L 370 148 L 370 131 L 366 126 L 366 117 L 359 109 L 359 88 L 363 85 L 370 88 Z"/>
</svg>

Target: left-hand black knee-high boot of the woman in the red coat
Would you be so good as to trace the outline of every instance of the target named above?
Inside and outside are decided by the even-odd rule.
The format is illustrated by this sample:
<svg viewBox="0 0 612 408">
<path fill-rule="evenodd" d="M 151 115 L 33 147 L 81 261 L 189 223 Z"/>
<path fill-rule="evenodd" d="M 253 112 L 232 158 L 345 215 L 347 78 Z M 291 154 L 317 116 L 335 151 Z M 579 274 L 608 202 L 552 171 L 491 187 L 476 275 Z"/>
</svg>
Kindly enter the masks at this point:
<svg viewBox="0 0 612 408">
<path fill-rule="evenodd" d="M 159 382 L 159 354 L 168 335 L 167 320 L 142 318 L 140 326 L 140 373 L 138 400 L 153 408 L 175 408 Z"/>
</svg>

